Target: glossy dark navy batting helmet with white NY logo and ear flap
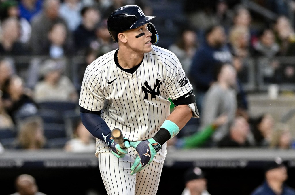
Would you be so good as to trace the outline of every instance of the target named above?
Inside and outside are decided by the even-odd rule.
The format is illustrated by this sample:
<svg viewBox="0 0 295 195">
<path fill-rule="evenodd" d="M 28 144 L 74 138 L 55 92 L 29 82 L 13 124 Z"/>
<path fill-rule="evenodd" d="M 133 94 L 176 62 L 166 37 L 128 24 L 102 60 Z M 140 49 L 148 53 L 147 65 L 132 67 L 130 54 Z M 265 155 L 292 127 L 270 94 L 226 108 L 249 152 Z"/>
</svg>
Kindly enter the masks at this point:
<svg viewBox="0 0 295 195">
<path fill-rule="evenodd" d="M 108 19 L 108 30 L 114 42 L 118 41 L 119 32 L 134 29 L 148 23 L 148 30 L 152 33 L 151 42 L 157 44 L 159 35 L 155 26 L 149 21 L 154 16 L 146 16 L 142 9 L 137 5 L 126 5 L 116 9 Z"/>
</svg>

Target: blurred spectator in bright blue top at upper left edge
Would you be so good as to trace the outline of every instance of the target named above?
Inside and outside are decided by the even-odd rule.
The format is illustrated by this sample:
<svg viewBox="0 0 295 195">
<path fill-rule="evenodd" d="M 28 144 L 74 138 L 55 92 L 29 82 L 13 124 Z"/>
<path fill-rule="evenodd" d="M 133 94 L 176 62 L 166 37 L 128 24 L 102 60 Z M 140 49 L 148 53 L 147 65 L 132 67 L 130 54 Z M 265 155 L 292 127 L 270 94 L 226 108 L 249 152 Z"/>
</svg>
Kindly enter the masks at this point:
<svg viewBox="0 0 295 195">
<path fill-rule="evenodd" d="M 42 10 L 42 2 L 43 0 L 20 0 L 20 17 L 31 22 L 31 19 Z"/>
</svg>

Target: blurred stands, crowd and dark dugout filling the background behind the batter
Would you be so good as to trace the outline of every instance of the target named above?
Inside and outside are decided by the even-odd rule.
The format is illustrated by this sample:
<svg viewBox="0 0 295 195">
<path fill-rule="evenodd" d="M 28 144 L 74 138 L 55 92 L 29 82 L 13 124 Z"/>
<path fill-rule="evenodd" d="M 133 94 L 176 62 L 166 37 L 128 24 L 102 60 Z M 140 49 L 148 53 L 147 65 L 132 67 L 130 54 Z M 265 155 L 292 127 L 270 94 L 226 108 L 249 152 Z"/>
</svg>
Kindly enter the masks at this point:
<svg viewBox="0 0 295 195">
<path fill-rule="evenodd" d="M 78 97 L 128 4 L 155 16 L 201 116 L 168 141 L 158 194 L 181 194 L 192 167 L 212 195 L 251 194 L 278 157 L 295 188 L 294 0 L 0 0 L 0 194 L 22 174 L 45 194 L 106 194 Z"/>
</svg>

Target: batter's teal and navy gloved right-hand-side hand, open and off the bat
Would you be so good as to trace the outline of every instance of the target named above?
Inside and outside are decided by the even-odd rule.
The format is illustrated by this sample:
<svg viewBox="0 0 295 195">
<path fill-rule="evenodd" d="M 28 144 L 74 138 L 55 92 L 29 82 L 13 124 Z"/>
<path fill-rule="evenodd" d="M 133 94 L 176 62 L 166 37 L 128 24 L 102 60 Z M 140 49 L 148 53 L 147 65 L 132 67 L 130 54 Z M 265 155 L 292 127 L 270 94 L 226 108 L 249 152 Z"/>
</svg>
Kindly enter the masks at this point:
<svg viewBox="0 0 295 195">
<path fill-rule="evenodd" d="M 153 138 L 143 141 L 130 142 L 130 146 L 137 151 L 136 158 L 131 166 L 130 175 L 137 173 L 148 166 L 161 149 L 161 145 Z"/>
</svg>

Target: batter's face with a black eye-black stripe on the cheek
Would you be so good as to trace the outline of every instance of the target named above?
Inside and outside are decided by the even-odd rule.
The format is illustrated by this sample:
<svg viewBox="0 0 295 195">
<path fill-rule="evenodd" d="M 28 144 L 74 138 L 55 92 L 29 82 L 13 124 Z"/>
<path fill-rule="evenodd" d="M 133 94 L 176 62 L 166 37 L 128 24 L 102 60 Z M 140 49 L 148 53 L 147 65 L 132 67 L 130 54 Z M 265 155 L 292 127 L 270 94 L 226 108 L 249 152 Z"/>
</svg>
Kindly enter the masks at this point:
<svg viewBox="0 0 295 195">
<path fill-rule="evenodd" d="M 128 46 L 135 52 L 148 53 L 152 50 L 152 43 L 150 42 L 152 33 L 148 30 L 148 24 L 125 31 L 124 33 Z"/>
</svg>

